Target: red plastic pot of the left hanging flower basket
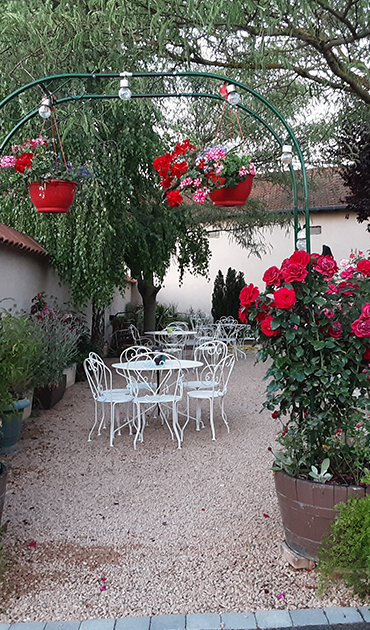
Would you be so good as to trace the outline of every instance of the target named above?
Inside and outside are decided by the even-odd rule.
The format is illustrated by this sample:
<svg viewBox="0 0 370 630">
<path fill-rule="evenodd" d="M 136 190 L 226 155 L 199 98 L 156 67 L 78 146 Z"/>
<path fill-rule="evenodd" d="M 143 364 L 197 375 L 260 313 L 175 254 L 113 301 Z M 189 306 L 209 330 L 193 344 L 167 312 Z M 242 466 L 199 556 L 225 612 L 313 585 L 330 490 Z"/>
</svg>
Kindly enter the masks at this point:
<svg viewBox="0 0 370 630">
<path fill-rule="evenodd" d="M 29 184 L 31 201 L 37 212 L 68 212 L 73 203 L 77 182 L 51 179 L 44 184 Z"/>
</svg>

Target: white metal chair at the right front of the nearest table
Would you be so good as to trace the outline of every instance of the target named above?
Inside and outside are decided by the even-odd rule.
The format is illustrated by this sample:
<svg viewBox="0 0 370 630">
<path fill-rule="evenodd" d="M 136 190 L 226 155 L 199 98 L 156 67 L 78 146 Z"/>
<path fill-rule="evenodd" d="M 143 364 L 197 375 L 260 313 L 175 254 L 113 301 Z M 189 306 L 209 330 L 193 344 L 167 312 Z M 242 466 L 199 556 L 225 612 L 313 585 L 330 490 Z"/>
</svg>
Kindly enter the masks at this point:
<svg viewBox="0 0 370 630">
<path fill-rule="evenodd" d="M 219 363 L 214 367 L 211 375 L 212 386 L 204 389 L 195 389 L 187 393 L 187 418 L 182 428 L 181 438 L 184 437 L 184 430 L 190 420 L 190 400 L 194 400 L 196 403 L 196 416 L 195 424 L 196 430 L 200 430 L 200 426 L 204 427 L 204 423 L 201 420 L 201 405 L 202 400 L 208 400 L 209 402 L 209 421 L 211 425 L 212 440 L 216 439 L 215 425 L 214 425 L 214 401 L 218 400 L 221 407 L 222 419 L 226 425 L 227 432 L 230 432 L 230 428 L 227 422 L 227 416 L 224 408 L 224 399 L 227 393 L 227 386 L 231 372 L 235 365 L 235 356 L 228 354 L 221 359 Z"/>
</svg>

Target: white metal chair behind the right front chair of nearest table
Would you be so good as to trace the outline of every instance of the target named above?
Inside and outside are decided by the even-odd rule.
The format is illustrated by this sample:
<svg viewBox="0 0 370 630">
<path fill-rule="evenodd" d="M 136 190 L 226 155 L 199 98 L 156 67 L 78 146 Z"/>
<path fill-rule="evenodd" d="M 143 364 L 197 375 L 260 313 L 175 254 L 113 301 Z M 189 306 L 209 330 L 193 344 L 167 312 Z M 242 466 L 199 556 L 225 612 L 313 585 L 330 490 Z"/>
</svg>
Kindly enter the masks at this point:
<svg viewBox="0 0 370 630">
<path fill-rule="evenodd" d="M 205 389 L 213 385 L 213 372 L 217 363 L 228 354 L 228 348 L 223 341 L 206 341 L 194 350 L 194 360 L 202 363 L 195 369 L 195 379 L 185 380 L 184 389 Z"/>
</svg>

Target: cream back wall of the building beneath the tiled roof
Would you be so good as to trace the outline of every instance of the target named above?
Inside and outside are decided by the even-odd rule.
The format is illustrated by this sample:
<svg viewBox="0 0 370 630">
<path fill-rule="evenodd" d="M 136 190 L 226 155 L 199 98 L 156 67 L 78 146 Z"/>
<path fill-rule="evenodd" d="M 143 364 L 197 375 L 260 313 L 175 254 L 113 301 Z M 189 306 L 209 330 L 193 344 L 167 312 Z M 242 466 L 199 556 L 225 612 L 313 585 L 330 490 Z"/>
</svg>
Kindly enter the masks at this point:
<svg viewBox="0 0 370 630">
<path fill-rule="evenodd" d="M 367 223 L 358 223 L 356 215 L 351 214 L 346 218 L 346 213 L 315 212 L 311 213 L 310 225 L 321 227 L 321 234 L 311 236 L 311 251 L 321 254 L 322 246 L 328 245 L 337 262 L 342 258 L 348 258 L 351 249 L 366 252 L 370 248 L 370 234 L 366 231 Z M 302 223 L 302 221 L 301 221 Z M 284 258 L 294 251 L 293 228 L 276 227 L 273 230 L 265 230 L 264 237 L 269 244 L 269 253 L 261 259 L 256 256 L 248 256 L 247 250 L 228 240 L 225 233 L 220 233 L 218 238 L 210 238 L 212 258 L 210 263 L 210 279 L 185 274 L 182 286 L 179 286 L 176 266 L 172 265 L 164 280 L 164 286 L 158 293 L 158 301 L 162 304 L 174 303 L 180 311 L 186 311 L 190 307 L 201 309 L 206 313 L 211 312 L 211 298 L 213 284 L 217 272 L 221 269 L 226 276 L 229 267 L 236 271 L 243 271 L 245 280 L 264 288 L 262 276 L 265 270 L 272 265 L 280 267 Z"/>
</svg>

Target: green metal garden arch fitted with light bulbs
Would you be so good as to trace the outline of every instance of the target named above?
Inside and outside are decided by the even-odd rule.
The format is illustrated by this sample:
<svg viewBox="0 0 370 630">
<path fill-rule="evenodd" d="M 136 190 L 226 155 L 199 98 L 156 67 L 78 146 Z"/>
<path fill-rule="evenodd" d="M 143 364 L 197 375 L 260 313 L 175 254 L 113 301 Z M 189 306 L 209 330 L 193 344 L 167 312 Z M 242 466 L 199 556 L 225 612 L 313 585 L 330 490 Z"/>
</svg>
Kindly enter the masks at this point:
<svg viewBox="0 0 370 630">
<path fill-rule="evenodd" d="M 193 71 L 184 71 L 184 72 L 133 72 L 133 73 L 127 73 L 127 75 L 129 75 L 130 77 L 142 77 L 142 78 L 149 78 L 149 77 L 206 77 L 206 78 L 210 78 L 210 79 L 215 79 L 217 81 L 226 81 L 227 83 L 233 83 L 234 85 L 236 85 L 237 87 L 239 87 L 241 90 L 251 94 L 254 98 L 256 98 L 258 101 L 262 102 L 279 120 L 280 122 L 283 124 L 283 126 L 286 129 L 287 135 L 290 138 L 293 146 L 295 147 L 296 151 L 297 151 L 297 155 L 301 164 L 301 169 L 302 169 L 302 183 L 303 183 L 303 189 L 304 189 L 304 212 L 305 212 L 305 230 L 306 230 L 306 250 L 307 252 L 311 251 L 311 247 L 310 247 L 310 225 L 309 225 L 309 201 L 308 201 L 308 186 L 307 186 L 307 173 L 306 173 L 306 168 L 305 168 L 305 164 L 304 164 L 304 159 L 303 159 L 303 155 L 301 152 L 301 149 L 299 147 L 298 141 L 294 135 L 293 130 L 291 129 L 291 127 L 288 125 L 287 121 L 284 119 L 284 117 L 280 114 L 280 112 L 271 104 L 269 103 L 269 101 L 267 99 L 265 99 L 262 95 L 260 95 L 258 92 L 256 92 L 255 90 L 253 90 L 252 88 L 244 85 L 243 83 L 241 83 L 240 81 L 236 81 L 233 79 L 229 79 L 228 77 L 225 77 L 223 75 L 219 75 L 219 74 L 214 74 L 214 73 L 207 73 L 207 72 L 193 72 Z M 121 78 L 122 74 L 121 73 L 117 73 L 117 72 L 111 72 L 111 73 L 69 73 L 69 74 L 59 74 L 59 75 L 51 75 L 48 77 L 43 77 L 42 79 L 38 79 L 35 81 L 32 81 L 30 83 L 27 83 L 25 85 L 23 85 L 22 87 L 18 88 L 18 90 L 15 90 L 14 92 L 12 92 L 11 94 L 9 94 L 5 99 L 3 99 L 3 101 L 0 102 L 0 110 L 3 109 L 10 101 L 16 99 L 20 94 L 32 89 L 35 86 L 41 86 L 44 91 L 46 93 L 49 93 L 48 88 L 45 86 L 45 84 L 50 83 L 51 81 L 57 81 L 57 80 L 71 80 L 71 79 L 94 79 L 94 80 L 100 80 L 100 79 L 113 79 L 113 78 Z M 140 99 L 140 98 L 180 98 L 180 97 L 193 97 L 193 98 L 211 98 L 214 100 L 220 100 L 224 102 L 224 98 L 218 94 L 209 94 L 209 93 L 199 93 L 199 92 L 175 92 L 175 93 L 147 93 L 147 94 L 132 94 L 132 99 Z M 99 99 L 99 100 L 104 100 L 104 99 L 117 99 L 118 94 L 81 94 L 81 95 L 74 95 L 74 96 L 68 96 L 68 97 L 64 97 L 61 99 L 58 99 L 58 104 L 62 104 L 62 103 L 66 103 L 69 101 L 79 101 L 79 100 L 92 100 L 92 99 Z M 281 140 L 280 136 L 276 133 L 276 131 L 273 129 L 273 127 L 271 127 L 271 125 L 269 123 L 267 123 L 259 114 L 257 114 L 256 112 L 254 112 L 252 109 L 248 108 L 247 106 L 243 105 L 242 103 L 239 103 L 238 105 L 236 105 L 235 107 L 237 107 L 238 109 L 241 109 L 242 111 L 246 112 L 247 114 L 249 114 L 250 116 L 252 116 L 253 118 L 255 118 L 255 120 L 257 120 L 259 123 L 261 123 L 268 131 L 269 133 L 271 133 L 274 138 L 276 139 L 276 141 L 278 142 L 278 144 L 280 145 L 280 147 L 283 145 L 283 141 Z M 3 140 L 3 142 L 0 145 L 0 154 L 2 153 L 4 147 L 8 144 L 8 142 L 11 140 L 11 138 L 15 135 L 15 133 L 29 120 L 31 120 L 33 117 L 35 117 L 38 114 L 38 109 L 32 110 L 31 112 L 29 112 L 28 114 L 26 114 L 25 116 L 23 116 L 23 118 L 13 127 L 13 129 L 8 133 L 8 135 L 6 136 L 6 138 Z M 289 166 L 290 169 L 290 173 L 291 173 L 291 177 L 292 177 L 292 184 L 293 184 L 293 199 L 294 199 L 294 242 L 295 242 L 295 247 L 297 245 L 297 238 L 298 238 L 298 230 L 299 230 L 299 226 L 298 226 L 298 201 L 297 201 L 297 181 L 296 181 L 296 177 L 295 177 L 295 173 L 293 170 L 292 165 Z"/>
</svg>

